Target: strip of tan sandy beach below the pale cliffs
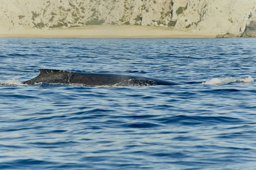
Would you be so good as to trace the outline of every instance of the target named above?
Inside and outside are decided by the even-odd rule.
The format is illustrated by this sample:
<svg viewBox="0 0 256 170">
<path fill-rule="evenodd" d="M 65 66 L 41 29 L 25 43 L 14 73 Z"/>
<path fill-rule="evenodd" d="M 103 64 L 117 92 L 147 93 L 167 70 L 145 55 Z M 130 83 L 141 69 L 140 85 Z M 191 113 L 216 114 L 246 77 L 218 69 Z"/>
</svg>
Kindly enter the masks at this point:
<svg viewBox="0 0 256 170">
<path fill-rule="evenodd" d="M 0 37 L 78 38 L 78 39 L 162 39 L 214 38 L 217 33 L 192 33 L 167 27 L 141 25 L 89 25 L 65 29 L 12 29 L 1 31 Z"/>
</svg>

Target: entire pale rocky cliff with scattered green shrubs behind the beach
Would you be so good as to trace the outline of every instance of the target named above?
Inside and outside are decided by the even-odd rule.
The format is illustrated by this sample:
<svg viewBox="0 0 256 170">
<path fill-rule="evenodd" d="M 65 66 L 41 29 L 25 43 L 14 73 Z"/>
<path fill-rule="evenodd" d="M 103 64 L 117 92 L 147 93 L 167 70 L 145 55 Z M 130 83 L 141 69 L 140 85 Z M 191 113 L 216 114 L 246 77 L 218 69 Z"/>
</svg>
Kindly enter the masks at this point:
<svg viewBox="0 0 256 170">
<path fill-rule="evenodd" d="M 256 36 L 255 0 L 0 0 L 1 29 L 153 25 Z"/>
</svg>

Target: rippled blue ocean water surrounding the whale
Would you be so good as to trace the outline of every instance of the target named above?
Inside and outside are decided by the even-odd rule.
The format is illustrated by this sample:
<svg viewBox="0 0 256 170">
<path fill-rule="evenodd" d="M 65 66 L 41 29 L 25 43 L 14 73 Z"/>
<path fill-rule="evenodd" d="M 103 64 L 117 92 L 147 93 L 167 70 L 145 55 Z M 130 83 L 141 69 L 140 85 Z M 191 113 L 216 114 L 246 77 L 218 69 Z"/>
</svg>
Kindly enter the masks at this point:
<svg viewBox="0 0 256 170">
<path fill-rule="evenodd" d="M 40 68 L 184 85 L 21 84 Z M 255 77 L 256 39 L 0 38 L 0 169 L 256 169 Z"/>
</svg>

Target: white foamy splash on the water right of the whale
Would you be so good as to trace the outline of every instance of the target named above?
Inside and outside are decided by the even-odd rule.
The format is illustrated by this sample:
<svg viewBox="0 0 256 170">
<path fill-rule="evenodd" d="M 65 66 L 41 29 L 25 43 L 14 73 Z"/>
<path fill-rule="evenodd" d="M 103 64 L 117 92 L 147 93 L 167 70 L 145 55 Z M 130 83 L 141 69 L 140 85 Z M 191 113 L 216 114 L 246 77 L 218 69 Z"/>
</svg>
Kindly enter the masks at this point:
<svg viewBox="0 0 256 170">
<path fill-rule="evenodd" d="M 209 85 L 222 85 L 229 83 L 253 83 L 253 78 L 251 76 L 243 76 L 241 78 L 233 78 L 232 76 L 227 76 L 225 78 L 214 78 L 209 80 L 208 82 L 203 82 L 202 84 Z"/>
</svg>

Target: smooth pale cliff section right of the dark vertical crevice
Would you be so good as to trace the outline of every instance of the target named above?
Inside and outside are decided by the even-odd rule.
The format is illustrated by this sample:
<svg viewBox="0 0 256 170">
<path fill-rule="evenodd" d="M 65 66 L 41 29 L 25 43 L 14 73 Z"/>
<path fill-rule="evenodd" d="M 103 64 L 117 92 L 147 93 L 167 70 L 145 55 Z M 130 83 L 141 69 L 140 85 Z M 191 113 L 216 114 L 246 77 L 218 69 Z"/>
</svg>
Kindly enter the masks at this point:
<svg viewBox="0 0 256 170">
<path fill-rule="evenodd" d="M 254 0 L 190 0 L 175 27 L 240 35 L 255 16 Z"/>
</svg>

